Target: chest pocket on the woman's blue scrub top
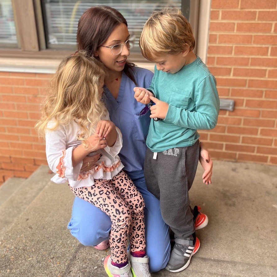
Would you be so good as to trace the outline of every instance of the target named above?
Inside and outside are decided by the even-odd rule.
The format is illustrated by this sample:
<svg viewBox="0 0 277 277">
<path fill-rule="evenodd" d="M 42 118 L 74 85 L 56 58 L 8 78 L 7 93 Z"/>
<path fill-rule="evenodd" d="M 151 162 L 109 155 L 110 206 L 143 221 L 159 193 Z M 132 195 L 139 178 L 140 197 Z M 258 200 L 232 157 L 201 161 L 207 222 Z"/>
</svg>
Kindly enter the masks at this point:
<svg viewBox="0 0 277 277">
<path fill-rule="evenodd" d="M 146 141 L 151 120 L 149 116 L 149 111 L 141 116 L 134 115 L 134 139 L 139 141 Z"/>
</svg>

